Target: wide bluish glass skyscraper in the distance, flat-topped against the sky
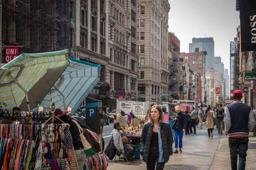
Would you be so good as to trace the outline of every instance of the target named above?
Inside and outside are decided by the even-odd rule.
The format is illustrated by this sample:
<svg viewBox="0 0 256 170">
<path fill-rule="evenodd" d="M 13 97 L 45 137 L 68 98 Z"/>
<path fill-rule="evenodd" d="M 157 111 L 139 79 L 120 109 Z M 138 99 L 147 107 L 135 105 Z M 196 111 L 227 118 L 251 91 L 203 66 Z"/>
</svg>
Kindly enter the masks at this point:
<svg viewBox="0 0 256 170">
<path fill-rule="evenodd" d="M 214 40 L 212 37 L 208 38 L 192 38 L 192 43 L 189 43 L 189 52 L 194 53 L 196 48 L 199 52 L 207 51 L 206 55 L 206 71 L 213 67 L 214 63 Z"/>
</svg>

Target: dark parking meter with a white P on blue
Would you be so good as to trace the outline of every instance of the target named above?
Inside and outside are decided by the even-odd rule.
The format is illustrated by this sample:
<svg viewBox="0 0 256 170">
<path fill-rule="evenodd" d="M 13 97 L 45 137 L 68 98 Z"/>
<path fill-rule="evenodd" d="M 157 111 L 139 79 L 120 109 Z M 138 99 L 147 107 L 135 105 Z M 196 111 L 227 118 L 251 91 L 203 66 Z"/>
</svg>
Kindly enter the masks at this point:
<svg viewBox="0 0 256 170">
<path fill-rule="evenodd" d="M 86 97 L 86 125 L 95 133 L 103 132 L 102 101 Z"/>
</svg>

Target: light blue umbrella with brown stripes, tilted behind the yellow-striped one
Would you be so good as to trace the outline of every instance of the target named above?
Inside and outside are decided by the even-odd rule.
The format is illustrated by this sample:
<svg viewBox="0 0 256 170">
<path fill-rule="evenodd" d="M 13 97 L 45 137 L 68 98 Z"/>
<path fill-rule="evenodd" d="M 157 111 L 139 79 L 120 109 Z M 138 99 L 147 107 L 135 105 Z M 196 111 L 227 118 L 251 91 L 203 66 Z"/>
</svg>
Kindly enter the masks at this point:
<svg viewBox="0 0 256 170">
<path fill-rule="evenodd" d="M 68 59 L 70 64 L 38 106 L 47 109 L 55 102 L 55 108 L 65 111 L 66 106 L 71 106 L 74 113 L 100 81 L 100 65 Z"/>
</svg>

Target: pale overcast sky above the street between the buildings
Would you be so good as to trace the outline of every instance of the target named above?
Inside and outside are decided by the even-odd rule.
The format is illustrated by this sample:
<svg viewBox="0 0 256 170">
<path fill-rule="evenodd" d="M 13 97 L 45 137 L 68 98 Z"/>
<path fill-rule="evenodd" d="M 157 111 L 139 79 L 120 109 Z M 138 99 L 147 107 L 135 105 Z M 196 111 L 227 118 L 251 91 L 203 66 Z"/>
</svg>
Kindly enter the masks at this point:
<svg viewBox="0 0 256 170">
<path fill-rule="evenodd" d="M 193 37 L 213 37 L 215 56 L 221 56 L 230 71 L 230 41 L 240 25 L 235 0 L 168 0 L 169 32 L 180 40 L 180 52 L 189 52 Z"/>
</svg>

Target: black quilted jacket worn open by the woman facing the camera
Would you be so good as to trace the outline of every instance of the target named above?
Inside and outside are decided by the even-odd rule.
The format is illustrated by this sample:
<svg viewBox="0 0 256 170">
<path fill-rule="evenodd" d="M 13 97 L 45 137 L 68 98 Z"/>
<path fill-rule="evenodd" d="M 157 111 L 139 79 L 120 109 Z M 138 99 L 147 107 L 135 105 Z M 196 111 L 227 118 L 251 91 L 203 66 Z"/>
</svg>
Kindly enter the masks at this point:
<svg viewBox="0 0 256 170">
<path fill-rule="evenodd" d="M 164 150 L 164 159 L 165 162 L 168 162 L 170 155 L 173 154 L 172 144 L 173 144 L 173 135 L 171 132 L 171 127 L 168 123 L 160 123 L 161 126 L 161 139 L 162 139 L 162 147 Z M 143 156 L 143 160 L 147 163 L 149 158 L 149 151 L 150 151 L 150 142 L 152 138 L 153 132 L 153 122 L 152 123 L 145 123 L 142 128 L 141 133 L 141 150 L 140 153 Z"/>
</svg>

